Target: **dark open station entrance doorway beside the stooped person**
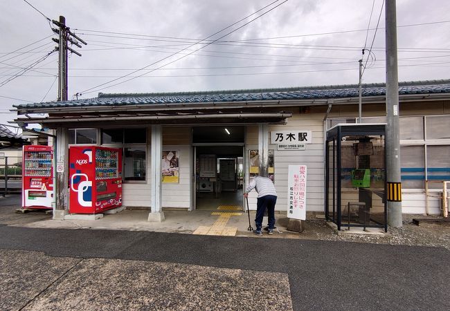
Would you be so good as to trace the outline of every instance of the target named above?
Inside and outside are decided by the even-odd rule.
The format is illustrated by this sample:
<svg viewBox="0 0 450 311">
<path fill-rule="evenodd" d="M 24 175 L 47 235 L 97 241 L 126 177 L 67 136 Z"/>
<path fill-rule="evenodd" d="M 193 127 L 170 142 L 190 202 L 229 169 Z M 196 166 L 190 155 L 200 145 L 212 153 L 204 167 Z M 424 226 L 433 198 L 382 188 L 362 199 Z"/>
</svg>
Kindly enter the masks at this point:
<svg viewBox="0 0 450 311">
<path fill-rule="evenodd" d="M 204 211 L 242 211 L 244 126 L 193 129 L 194 207 Z"/>
</svg>

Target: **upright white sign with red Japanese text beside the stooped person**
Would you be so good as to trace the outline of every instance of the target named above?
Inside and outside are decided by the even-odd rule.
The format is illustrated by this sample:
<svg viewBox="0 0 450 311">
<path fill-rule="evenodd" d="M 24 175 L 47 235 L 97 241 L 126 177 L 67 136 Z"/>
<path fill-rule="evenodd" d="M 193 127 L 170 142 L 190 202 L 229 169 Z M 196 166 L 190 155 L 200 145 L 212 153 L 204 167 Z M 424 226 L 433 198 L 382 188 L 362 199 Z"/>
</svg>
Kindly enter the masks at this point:
<svg viewBox="0 0 450 311">
<path fill-rule="evenodd" d="M 306 220 L 306 165 L 289 165 L 287 217 Z"/>
</svg>

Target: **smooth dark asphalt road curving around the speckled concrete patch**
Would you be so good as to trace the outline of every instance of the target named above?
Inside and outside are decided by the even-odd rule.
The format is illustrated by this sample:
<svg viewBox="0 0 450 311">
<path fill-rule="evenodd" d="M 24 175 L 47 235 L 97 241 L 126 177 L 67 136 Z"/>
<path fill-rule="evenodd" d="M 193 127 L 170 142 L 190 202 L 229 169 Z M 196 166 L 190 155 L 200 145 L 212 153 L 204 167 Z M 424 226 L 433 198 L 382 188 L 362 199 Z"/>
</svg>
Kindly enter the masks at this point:
<svg viewBox="0 0 450 311">
<path fill-rule="evenodd" d="M 435 247 L 6 225 L 0 236 L 0 249 L 64 258 L 287 274 L 294 310 L 450 310 L 450 254 Z M 242 290 L 273 286 L 271 279 L 246 280 Z"/>
</svg>

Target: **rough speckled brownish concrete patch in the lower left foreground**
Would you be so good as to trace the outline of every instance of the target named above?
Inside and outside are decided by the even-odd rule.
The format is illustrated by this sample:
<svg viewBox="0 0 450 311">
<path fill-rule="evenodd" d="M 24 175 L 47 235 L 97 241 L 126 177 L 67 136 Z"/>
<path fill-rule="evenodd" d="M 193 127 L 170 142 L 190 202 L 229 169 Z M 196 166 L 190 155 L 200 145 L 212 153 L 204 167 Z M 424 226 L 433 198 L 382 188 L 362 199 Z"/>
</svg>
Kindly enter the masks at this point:
<svg viewBox="0 0 450 311">
<path fill-rule="evenodd" d="M 6 249 L 0 265 L 1 310 L 292 310 L 276 272 Z M 255 279 L 267 280 L 262 290 Z"/>
</svg>

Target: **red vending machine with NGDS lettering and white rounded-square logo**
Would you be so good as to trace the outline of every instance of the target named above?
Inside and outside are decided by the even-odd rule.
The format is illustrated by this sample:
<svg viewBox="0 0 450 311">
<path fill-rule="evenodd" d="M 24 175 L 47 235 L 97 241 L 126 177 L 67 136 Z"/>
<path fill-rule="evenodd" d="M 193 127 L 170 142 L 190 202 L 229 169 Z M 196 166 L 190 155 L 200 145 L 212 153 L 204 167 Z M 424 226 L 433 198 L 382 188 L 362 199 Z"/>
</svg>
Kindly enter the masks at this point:
<svg viewBox="0 0 450 311">
<path fill-rule="evenodd" d="M 122 205 L 122 151 L 106 147 L 69 148 L 69 211 L 96 214 Z"/>
</svg>

